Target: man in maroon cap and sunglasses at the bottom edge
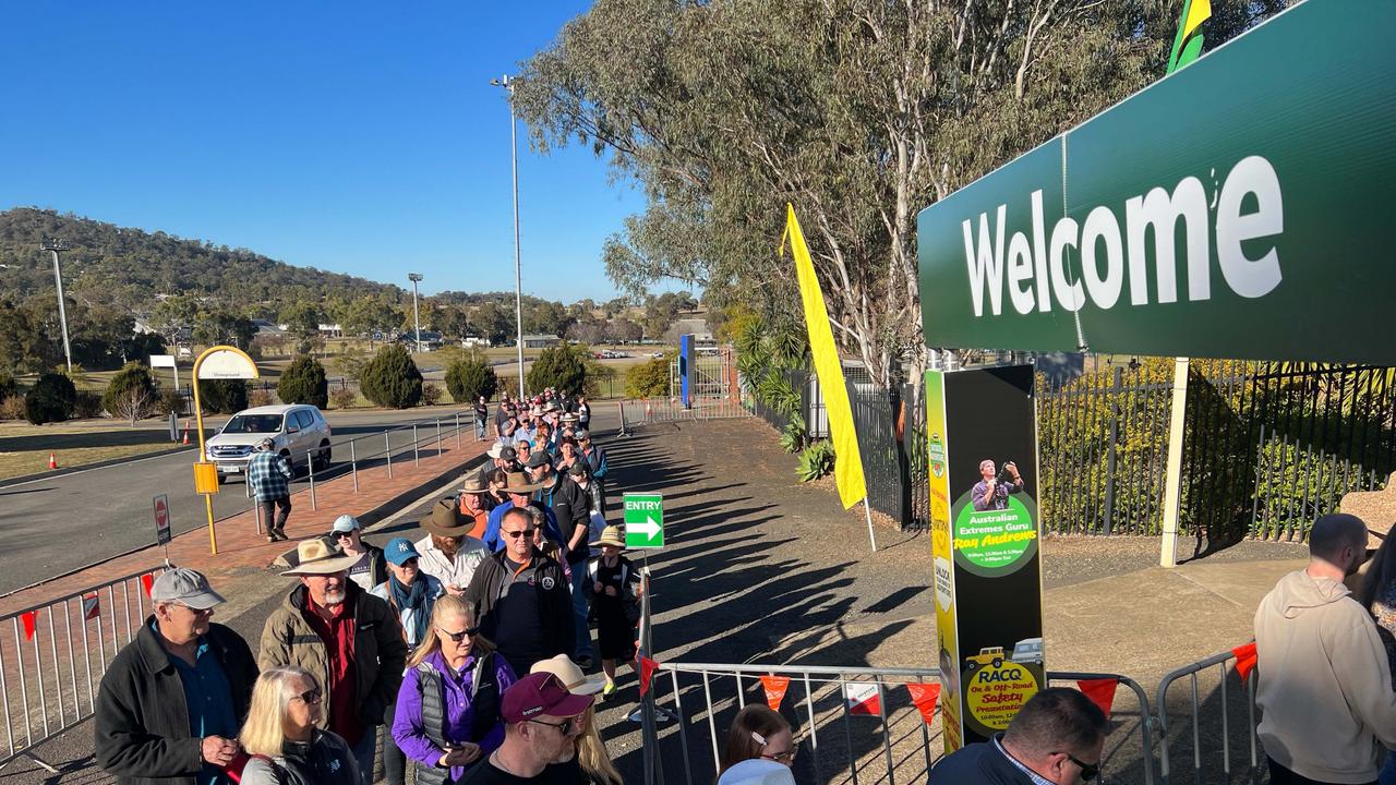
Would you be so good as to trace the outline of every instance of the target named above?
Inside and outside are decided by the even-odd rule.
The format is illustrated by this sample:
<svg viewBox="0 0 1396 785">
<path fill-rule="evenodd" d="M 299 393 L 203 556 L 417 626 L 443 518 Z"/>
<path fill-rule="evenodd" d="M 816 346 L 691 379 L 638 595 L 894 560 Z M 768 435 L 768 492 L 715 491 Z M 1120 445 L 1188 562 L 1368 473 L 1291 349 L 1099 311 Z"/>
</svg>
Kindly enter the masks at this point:
<svg viewBox="0 0 1396 785">
<path fill-rule="evenodd" d="M 582 728 L 582 712 L 595 696 L 574 696 L 557 676 L 529 673 L 504 690 L 500 715 L 504 743 L 470 768 L 458 785 L 543 782 L 550 763 L 571 756 Z"/>
</svg>

